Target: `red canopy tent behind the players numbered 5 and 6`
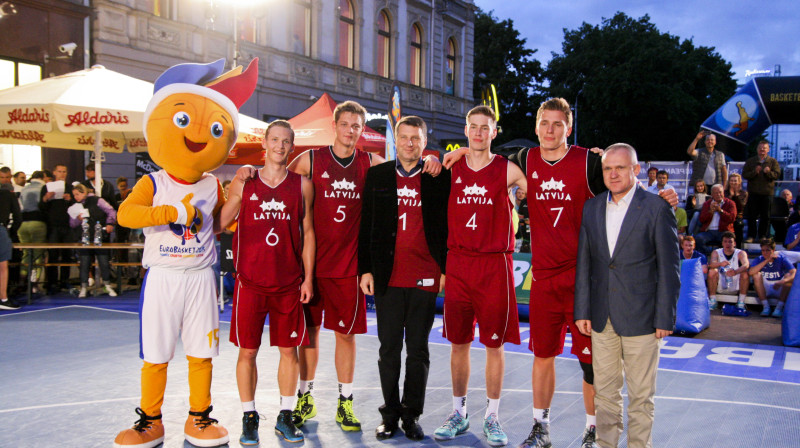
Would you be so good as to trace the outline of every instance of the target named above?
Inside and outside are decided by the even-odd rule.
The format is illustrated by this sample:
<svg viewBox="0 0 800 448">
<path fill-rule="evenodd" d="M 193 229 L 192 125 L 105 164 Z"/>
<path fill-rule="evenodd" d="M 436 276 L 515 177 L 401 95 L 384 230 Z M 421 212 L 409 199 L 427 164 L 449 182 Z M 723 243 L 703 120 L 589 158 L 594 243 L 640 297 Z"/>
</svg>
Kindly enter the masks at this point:
<svg viewBox="0 0 800 448">
<path fill-rule="evenodd" d="M 336 101 L 330 95 L 323 93 L 322 97 L 311 107 L 289 119 L 295 134 L 295 148 L 292 155 L 289 156 L 290 160 L 308 149 L 328 146 L 333 143 L 332 123 L 333 110 L 336 108 L 336 104 Z M 358 139 L 356 148 L 383 156 L 386 150 L 386 136 L 364 125 L 364 132 L 361 134 L 361 138 Z M 264 150 L 260 147 L 237 148 L 226 163 L 233 165 L 263 165 Z"/>
</svg>

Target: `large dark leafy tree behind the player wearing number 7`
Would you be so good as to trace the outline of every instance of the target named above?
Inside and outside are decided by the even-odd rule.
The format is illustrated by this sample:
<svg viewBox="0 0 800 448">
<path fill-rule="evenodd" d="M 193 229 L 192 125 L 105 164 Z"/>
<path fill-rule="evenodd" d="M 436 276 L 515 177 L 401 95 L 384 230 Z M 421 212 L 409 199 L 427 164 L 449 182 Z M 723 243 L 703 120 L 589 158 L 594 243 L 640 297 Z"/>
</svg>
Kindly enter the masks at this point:
<svg viewBox="0 0 800 448">
<path fill-rule="evenodd" d="M 551 96 L 573 104 L 580 92 L 578 144 L 629 143 L 641 160 L 686 159 L 700 125 L 736 89 L 731 64 L 713 47 L 662 33 L 647 15 L 618 12 L 565 29 L 562 51 L 546 77 Z"/>
</svg>

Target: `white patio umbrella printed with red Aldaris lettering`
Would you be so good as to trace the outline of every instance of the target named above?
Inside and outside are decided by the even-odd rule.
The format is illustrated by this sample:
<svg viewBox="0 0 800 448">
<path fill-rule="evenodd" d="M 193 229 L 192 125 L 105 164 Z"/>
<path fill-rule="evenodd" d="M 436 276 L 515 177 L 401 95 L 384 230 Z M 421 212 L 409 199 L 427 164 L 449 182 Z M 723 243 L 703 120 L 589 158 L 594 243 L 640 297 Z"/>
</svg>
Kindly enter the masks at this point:
<svg viewBox="0 0 800 448">
<path fill-rule="evenodd" d="M 152 96 L 152 83 L 100 65 L 0 90 L 0 143 L 94 151 L 99 181 L 102 151 L 147 151 L 142 117 Z M 236 146 L 260 146 L 266 126 L 240 115 Z"/>
</svg>

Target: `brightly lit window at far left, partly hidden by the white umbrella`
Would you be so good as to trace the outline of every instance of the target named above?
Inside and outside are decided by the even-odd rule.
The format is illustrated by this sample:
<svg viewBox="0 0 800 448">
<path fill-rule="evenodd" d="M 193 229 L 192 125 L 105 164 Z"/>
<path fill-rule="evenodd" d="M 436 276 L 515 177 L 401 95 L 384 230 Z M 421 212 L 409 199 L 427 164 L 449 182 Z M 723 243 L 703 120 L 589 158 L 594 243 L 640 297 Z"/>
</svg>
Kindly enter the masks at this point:
<svg viewBox="0 0 800 448">
<path fill-rule="evenodd" d="M 29 84 L 42 79 L 40 65 L 0 59 L 0 89 Z M 0 144 L 0 164 L 14 171 L 32 173 L 42 169 L 42 148 L 29 145 Z"/>
</svg>

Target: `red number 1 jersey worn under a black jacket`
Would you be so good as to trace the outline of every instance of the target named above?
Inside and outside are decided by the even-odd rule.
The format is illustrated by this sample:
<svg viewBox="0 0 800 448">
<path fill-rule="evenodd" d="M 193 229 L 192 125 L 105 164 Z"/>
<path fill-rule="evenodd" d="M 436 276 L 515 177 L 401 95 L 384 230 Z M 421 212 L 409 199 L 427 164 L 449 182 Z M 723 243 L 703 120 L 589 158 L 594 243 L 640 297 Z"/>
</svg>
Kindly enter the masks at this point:
<svg viewBox="0 0 800 448">
<path fill-rule="evenodd" d="M 397 177 L 397 239 L 389 286 L 439 292 L 442 271 L 434 261 L 422 225 L 421 171 Z"/>
</svg>

